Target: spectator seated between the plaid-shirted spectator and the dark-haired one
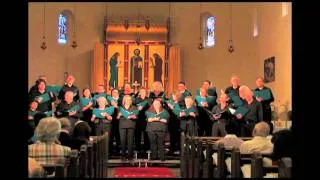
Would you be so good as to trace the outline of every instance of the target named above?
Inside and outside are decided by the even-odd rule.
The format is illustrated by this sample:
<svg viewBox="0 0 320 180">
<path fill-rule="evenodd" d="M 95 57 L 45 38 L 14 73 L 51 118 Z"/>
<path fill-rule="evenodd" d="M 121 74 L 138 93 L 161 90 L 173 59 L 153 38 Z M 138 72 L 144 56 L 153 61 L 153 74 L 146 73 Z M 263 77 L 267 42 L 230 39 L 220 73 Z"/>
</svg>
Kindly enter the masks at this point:
<svg viewBox="0 0 320 180">
<path fill-rule="evenodd" d="M 59 141 L 61 145 L 71 147 L 71 123 L 67 118 L 59 119 L 61 124 L 61 132 L 59 135 Z"/>
</svg>

